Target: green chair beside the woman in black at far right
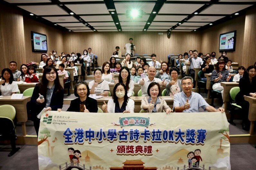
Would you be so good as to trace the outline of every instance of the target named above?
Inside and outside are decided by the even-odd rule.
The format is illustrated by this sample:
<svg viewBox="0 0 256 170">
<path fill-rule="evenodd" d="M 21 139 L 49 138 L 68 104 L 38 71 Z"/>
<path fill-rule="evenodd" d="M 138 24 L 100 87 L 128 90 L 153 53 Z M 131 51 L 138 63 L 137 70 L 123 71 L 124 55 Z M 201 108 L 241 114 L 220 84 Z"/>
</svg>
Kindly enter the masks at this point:
<svg viewBox="0 0 256 170">
<path fill-rule="evenodd" d="M 242 109 L 241 106 L 237 105 L 236 103 L 234 103 L 235 101 L 235 97 L 237 95 L 237 93 L 239 93 L 240 88 L 239 87 L 233 87 L 232 89 L 230 89 L 229 91 L 229 95 L 230 95 L 230 104 L 231 104 L 231 111 L 230 111 L 230 121 L 228 121 L 230 124 L 232 125 L 236 125 L 233 120 L 234 120 L 234 112 L 235 112 L 235 108 L 239 108 Z"/>
</svg>

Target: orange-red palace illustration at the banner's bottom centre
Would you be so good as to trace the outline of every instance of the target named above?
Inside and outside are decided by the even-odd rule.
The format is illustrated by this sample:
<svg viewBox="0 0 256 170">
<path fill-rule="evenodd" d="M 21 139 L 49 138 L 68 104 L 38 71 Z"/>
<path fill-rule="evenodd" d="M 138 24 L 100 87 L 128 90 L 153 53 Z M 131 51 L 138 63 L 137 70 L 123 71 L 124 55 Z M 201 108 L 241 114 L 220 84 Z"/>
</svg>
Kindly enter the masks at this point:
<svg viewBox="0 0 256 170">
<path fill-rule="evenodd" d="M 139 160 L 126 160 L 123 162 L 124 166 L 122 167 L 110 167 L 110 170 L 156 170 L 157 167 L 145 167 L 143 164 L 144 162 Z"/>
</svg>

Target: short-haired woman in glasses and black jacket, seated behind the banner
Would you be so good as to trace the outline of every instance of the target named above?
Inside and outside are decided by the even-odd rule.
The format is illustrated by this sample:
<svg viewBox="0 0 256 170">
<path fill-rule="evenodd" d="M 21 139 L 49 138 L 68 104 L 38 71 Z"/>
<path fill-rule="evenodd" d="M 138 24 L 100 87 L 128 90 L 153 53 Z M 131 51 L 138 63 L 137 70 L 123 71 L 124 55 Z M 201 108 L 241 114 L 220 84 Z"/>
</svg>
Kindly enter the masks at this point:
<svg viewBox="0 0 256 170">
<path fill-rule="evenodd" d="M 97 100 L 90 98 L 89 86 L 85 81 L 79 81 L 74 89 L 74 95 L 78 98 L 71 101 L 68 112 L 97 113 Z M 61 109 L 58 109 L 60 112 Z"/>
</svg>

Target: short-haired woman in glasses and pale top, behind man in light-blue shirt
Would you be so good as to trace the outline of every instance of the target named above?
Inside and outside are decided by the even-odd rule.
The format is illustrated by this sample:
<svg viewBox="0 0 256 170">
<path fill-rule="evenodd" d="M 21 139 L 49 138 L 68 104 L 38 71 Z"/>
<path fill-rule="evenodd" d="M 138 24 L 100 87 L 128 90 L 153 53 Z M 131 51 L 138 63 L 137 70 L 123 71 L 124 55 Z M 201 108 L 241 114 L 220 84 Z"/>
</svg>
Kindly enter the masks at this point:
<svg viewBox="0 0 256 170">
<path fill-rule="evenodd" d="M 171 70 L 171 81 L 166 84 L 165 96 L 173 97 L 176 93 L 182 91 L 181 80 L 178 79 L 179 71 L 174 68 Z"/>
</svg>

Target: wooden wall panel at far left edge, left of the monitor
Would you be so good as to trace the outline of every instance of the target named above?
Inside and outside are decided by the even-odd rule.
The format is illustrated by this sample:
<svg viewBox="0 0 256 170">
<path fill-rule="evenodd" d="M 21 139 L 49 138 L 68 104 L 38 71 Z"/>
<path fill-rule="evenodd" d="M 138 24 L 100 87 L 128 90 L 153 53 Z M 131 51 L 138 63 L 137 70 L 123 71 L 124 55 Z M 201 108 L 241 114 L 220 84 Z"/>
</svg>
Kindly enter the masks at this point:
<svg viewBox="0 0 256 170">
<path fill-rule="evenodd" d="M 0 51 L 4 58 L 0 62 L 0 70 L 9 68 L 14 60 L 18 66 L 25 62 L 25 40 L 23 15 L 20 11 L 1 4 L 0 10 Z"/>
</svg>

